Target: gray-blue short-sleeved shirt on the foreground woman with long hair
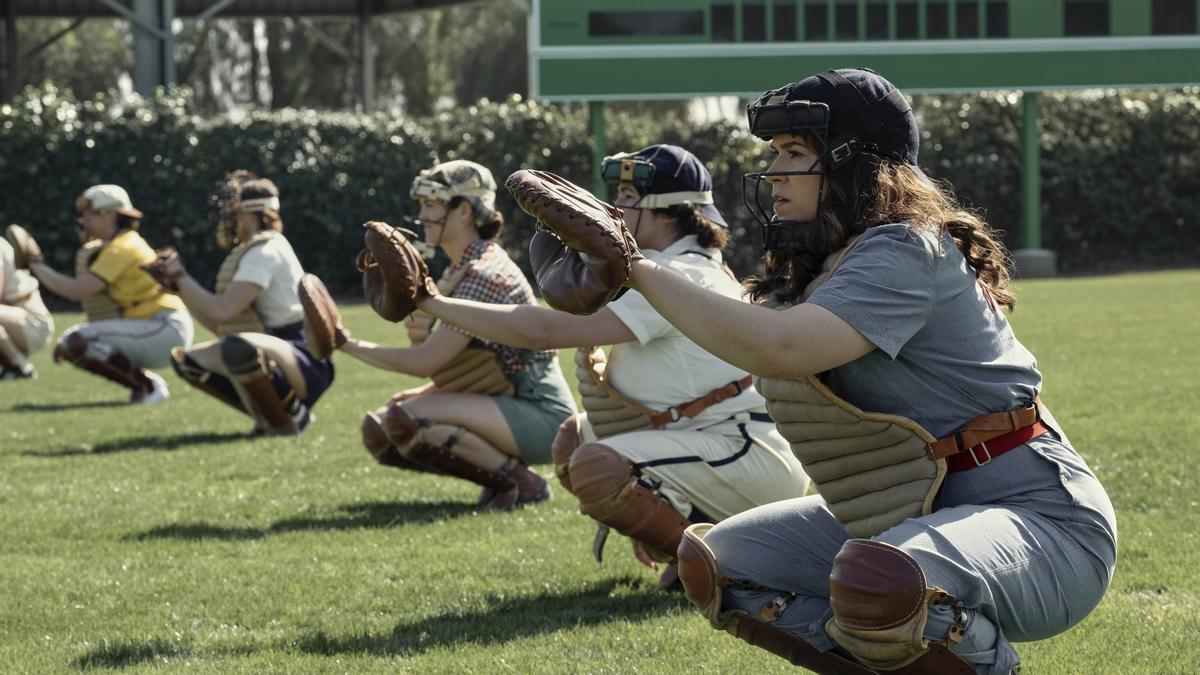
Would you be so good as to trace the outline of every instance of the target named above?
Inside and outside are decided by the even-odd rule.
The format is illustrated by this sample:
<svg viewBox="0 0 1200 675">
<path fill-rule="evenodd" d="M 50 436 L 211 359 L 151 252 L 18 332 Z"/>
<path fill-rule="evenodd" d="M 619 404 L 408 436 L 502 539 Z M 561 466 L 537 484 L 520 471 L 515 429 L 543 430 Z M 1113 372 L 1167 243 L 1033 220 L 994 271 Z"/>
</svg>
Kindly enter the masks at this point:
<svg viewBox="0 0 1200 675">
<path fill-rule="evenodd" d="M 942 437 L 980 414 L 1028 405 L 1042 388 L 1033 354 L 949 234 L 869 228 L 808 301 L 877 347 L 826 380 L 865 411 L 907 417 Z"/>
</svg>

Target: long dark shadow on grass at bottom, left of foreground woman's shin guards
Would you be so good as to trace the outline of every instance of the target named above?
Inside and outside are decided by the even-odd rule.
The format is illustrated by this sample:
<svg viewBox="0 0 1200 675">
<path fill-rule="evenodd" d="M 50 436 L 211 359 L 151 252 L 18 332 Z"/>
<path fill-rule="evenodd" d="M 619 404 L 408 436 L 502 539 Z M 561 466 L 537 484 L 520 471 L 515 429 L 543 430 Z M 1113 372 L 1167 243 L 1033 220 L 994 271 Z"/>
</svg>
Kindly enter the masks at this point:
<svg viewBox="0 0 1200 675">
<path fill-rule="evenodd" d="M 479 611 L 444 614 L 398 623 L 385 635 L 301 637 L 300 651 L 317 655 L 412 655 L 460 644 L 493 645 L 556 631 L 614 621 L 642 621 L 680 608 L 682 593 L 653 592 L 649 579 L 607 579 L 563 593 L 490 598 Z M 624 589 L 631 593 L 613 593 Z"/>
</svg>

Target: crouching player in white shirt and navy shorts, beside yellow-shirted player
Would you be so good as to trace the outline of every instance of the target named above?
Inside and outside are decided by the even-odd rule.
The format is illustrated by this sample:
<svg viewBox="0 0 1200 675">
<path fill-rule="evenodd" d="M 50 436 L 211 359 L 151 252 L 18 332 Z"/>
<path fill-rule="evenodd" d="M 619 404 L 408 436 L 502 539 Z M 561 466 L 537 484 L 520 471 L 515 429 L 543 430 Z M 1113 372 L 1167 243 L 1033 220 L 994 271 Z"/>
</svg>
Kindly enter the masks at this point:
<svg viewBox="0 0 1200 675">
<path fill-rule="evenodd" d="M 236 171 L 222 181 L 217 202 L 217 243 L 229 255 L 216 293 L 187 274 L 173 249 L 160 251 L 150 267 L 221 336 L 172 350 L 172 365 L 192 387 L 250 416 L 251 434 L 300 434 L 334 381 L 334 363 L 313 357 L 305 342 L 296 292 L 304 269 L 283 237 L 280 191 L 271 180 Z"/>
</svg>

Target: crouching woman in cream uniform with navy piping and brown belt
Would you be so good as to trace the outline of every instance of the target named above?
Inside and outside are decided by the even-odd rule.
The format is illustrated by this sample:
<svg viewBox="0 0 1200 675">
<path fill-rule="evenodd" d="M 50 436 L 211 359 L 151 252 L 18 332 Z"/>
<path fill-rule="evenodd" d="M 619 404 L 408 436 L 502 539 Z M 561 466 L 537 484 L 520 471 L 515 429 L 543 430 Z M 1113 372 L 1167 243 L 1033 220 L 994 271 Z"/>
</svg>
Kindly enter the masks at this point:
<svg viewBox="0 0 1200 675">
<path fill-rule="evenodd" d="M 607 157 L 602 174 L 647 255 L 689 285 L 738 295 L 721 259 L 725 219 L 695 155 L 650 145 Z M 530 257 L 540 267 L 538 241 Z M 420 307 L 505 345 L 577 348 L 586 412 L 562 425 L 554 471 L 601 532 L 612 527 L 632 538 L 650 567 L 673 562 L 688 525 L 799 497 L 808 488 L 746 372 L 685 338 L 636 292 L 590 316 L 446 297 Z M 612 345 L 607 363 L 596 345 Z M 596 542 L 599 558 L 602 534 Z M 661 585 L 674 580 L 671 565 Z"/>
</svg>

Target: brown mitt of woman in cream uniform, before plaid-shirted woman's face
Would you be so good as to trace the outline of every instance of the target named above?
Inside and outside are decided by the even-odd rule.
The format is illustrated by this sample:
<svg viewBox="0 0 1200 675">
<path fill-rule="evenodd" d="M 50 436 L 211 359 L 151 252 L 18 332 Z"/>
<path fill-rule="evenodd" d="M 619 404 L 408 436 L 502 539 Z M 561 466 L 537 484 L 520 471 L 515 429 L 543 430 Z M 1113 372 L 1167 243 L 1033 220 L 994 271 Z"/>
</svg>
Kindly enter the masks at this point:
<svg viewBox="0 0 1200 675">
<path fill-rule="evenodd" d="M 388 321 L 403 321 L 416 304 L 438 294 L 421 253 L 409 241 L 416 233 L 370 221 L 362 227 L 366 249 L 359 253 L 362 291 L 377 315 Z"/>
</svg>

